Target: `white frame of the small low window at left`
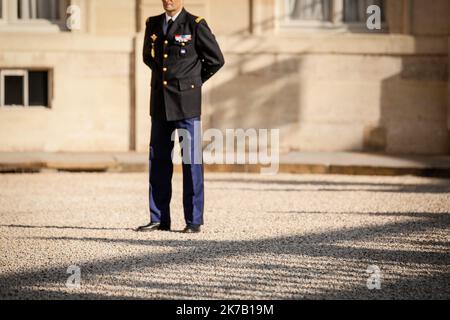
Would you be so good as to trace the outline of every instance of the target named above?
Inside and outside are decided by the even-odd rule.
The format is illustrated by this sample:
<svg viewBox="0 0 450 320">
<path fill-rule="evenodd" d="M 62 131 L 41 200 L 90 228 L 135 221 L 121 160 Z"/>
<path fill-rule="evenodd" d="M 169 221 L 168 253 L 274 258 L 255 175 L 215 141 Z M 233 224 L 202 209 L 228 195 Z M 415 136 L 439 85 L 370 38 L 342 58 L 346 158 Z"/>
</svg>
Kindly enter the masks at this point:
<svg viewBox="0 0 450 320">
<path fill-rule="evenodd" d="M 47 105 L 36 105 L 30 106 L 29 101 L 29 72 L 30 71 L 41 71 L 47 73 Z M 5 105 L 5 76 L 23 76 L 23 101 L 24 105 Z M 52 70 L 46 68 L 29 68 L 29 69 L 1 69 L 0 70 L 0 110 L 11 110 L 11 109 L 52 109 Z"/>
</svg>

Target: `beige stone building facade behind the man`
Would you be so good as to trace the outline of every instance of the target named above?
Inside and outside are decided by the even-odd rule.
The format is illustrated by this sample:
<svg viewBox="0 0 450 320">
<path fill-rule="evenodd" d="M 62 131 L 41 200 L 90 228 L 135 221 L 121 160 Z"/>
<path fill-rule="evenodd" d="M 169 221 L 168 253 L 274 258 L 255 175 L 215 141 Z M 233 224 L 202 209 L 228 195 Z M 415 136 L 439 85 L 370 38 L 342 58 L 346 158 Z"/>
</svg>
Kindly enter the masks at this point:
<svg viewBox="0 0 450 320">
<path fill-rule="evenodd" d="M 449 154 L 449 0 L 185 2 L 226 60 L 205 129 L 279 128 L 282 151 Z M 0 3 L 0 151 L 147 151 L 141 51 L 161 1 Z"/>
</svg>

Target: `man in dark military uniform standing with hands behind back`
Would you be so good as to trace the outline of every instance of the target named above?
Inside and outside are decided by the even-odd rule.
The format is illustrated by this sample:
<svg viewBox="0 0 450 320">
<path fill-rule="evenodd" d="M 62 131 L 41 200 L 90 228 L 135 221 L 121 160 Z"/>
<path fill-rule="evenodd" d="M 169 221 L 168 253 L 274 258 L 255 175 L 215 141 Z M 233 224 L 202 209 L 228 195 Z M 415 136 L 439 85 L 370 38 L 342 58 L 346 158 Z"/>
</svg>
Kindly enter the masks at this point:
<svg viewBox="0 0 450 320">
<path fill-rule="evenodd" d="M 148 18 L 145 30 L 143 58 L 152 70 L 150 223 L 136 231 L 170 230 L 172 134 L 182 129 L 190 135 L 188 150 L 182 150 L 184 232 L 197 233 L 203 225 L 204 174 L 202 161 L 193 159 L 202 147 L 194 129 L 201 120 L 202 85 L 224 65 L 224 58 L 203 18 L 187 12 L 183 0 L 162 2 L 165 13 Z"/>
</svg>

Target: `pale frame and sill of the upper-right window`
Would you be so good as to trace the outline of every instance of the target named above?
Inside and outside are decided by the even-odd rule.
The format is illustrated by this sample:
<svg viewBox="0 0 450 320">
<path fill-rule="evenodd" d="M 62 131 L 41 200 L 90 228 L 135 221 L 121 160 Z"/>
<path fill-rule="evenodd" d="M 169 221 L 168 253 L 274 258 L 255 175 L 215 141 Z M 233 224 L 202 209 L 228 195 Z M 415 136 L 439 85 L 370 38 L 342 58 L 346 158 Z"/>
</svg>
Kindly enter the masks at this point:
<svg viewBox="0 0 450 320">
<path fill-rule="evenodd" d="M 331 17 L 328 21 L 292 20 L 286 14 L 288 0 L 278 0 L 276 5 L 277 29 L 279 31 L 301 32 L 358 32 L 358 33 L 386 33 L 387 22 L 381 24 L 381 30 L 369 30 L 365 22 L 344 21 L 344 0 L 331 1 Z M 386 0 L 385 0 L 386 1 Z M 386 6 L 385 6 L 386 10 Z M 385 14 L 385 16 L 387 16 Z"/>
</svg>

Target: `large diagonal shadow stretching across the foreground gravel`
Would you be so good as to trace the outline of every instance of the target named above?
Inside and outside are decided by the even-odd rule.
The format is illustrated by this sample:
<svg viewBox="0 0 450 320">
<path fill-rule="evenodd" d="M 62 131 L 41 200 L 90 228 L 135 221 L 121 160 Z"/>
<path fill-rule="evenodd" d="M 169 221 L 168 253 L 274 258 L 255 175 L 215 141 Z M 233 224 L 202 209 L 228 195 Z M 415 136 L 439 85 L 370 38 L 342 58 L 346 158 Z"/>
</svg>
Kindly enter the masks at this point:
<svg viewBox="0 0 450 320">
<path fill-rule="evenodd" d="M 68 291 L 64 286 L 68 276 L 67 266 L 2 274 L 0 297 L 127 298 L 121 294 L 116 295 L 116 289 L 111 289 L 117 288 L 125 290 L 133 298 L 154 296 L 164 299 L 226 299 L 230 296 L 254 296 L 255 292 L 259 292 L 258 296 L 264 299 L 449 299 L 448 251 L 436 248 L 412 251 L 405 248 L 411 241 L 417 241 L 415 235 L 420 235 L 421 239 L 424 238 L 428 243 L 431 241 L 433 245 L 448 247 L 448 238 L 442 236 L 441 239 L 439 235 L 448 234 L 450 216 L 427 212 L 408 215 L 420 219 L 246 241 L 207 241 L 201 240 L 201 234 L 186 240 L 167 241 L 33 237 L 32 239 L 37 240 L 61 241 L 61 245 L 65 242 L 81 241 L 86 244 L 86 248 L 90 243 L 109 243 L 170 247 L 175 251 L 92 262 L 74 261 L 82 270 L 84 283 L 100 281 L 104 288 L 109 289 L 93 289 L 92 286 L 87 286 L 87 289 L 82 287 L 81 290 L 85 290 L 82 292 Z M 430 235 L 438 235 L 438 238 L 430 240 Z M 358 246 L 362 241 L 375 242 L 377 247 Z M 395 246 L 390 247 L 390 241 L 395 241 Z M 384 244 L 381 248 L 380 243 Z M 261 258 L 255 260 L 255 256 Z M 292 256 L 296 257 L 295 264 L 283 262 L 285 257 Z M 227 262 L 229 259 L 236 262 L 230 264 Z M 388 273 L 386 276 L 389 280 L 383 282 L 382 290 L 370 291 L 366 288 L 366 269 L 369 265 L 378 265 Z M 151 270 L 177 270 L 183 266 L 195 266 L 195 276 L 209 279 L 207 284 L 193 285 L 189 276 L 183 274 L 166 274 L 165 279 L 151 274 Z M 413 273 L 404 273 L 403 267 L 412 269 Z M 397 271 L 393 272 L 393 269 Z M 139 277 L 136 277 L 136 274 L 139 274 Z M 96 290 L 111 292 L 113 296 L 98 293 Z M 149 291 L 143 293 L 145 290 Z"/>
</svg>

